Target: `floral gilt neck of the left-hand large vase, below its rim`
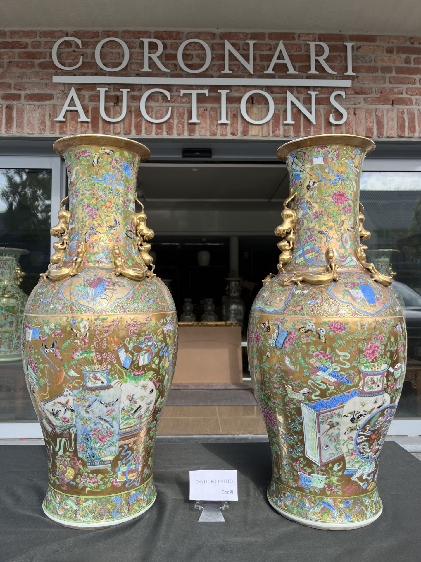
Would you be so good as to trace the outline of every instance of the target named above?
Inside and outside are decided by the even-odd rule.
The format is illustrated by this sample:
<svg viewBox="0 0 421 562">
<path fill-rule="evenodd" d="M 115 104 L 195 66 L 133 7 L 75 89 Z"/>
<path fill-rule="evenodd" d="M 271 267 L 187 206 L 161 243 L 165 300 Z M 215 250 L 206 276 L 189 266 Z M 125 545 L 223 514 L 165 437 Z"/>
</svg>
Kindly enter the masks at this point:
<svg viewBox="0 0 421 562">
<path fill-rule="evenodd" d="M 143 266 L 135 239 L 135 194 L 140 158 L 115 146 L 79 146 L 63 151 L 70 225 L 63 261 L 86 244 L 83 267 L 113 267 L 118 244 L 127 264 Z"/>
</svg>

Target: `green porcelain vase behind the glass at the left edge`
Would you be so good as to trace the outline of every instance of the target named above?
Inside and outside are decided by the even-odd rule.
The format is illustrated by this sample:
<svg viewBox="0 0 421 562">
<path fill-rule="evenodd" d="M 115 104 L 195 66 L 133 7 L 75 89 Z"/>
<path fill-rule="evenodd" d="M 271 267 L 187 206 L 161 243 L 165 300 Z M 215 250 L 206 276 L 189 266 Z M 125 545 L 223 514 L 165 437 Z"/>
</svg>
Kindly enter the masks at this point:
<svg viewBox="0 0 421 562">
<path fill-rule="evenodd" d="M 28 250 L 0 248 L 0 362 L 20 361 L 20 333 L 28 295 L 19 287 L 25 275 L 19 256 Z"/>
</svg>

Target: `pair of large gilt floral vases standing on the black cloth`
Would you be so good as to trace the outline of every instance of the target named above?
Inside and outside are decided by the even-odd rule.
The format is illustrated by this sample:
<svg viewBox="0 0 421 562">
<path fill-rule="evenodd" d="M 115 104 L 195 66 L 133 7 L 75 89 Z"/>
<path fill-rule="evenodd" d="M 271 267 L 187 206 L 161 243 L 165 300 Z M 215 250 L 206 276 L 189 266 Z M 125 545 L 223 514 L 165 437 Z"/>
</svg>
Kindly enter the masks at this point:
<svg viewBox="0 0 421 562">
<path fill-rule="evenodd" d="M 352 135 L 278 151 L 283 204 L 278 274 L 250 313 L 249 365 L 272 451 L 271 505 L 326 529 L 382 510 L 378 458 L 405 375 L 402 311 L 365 256 L 361 166 L 374 143 Z M 48 454 L 43 509 L 95 528 L 154 502 L 153 448 L 177 354 L 171 294 L 153 273 L 143 208 L 143 145 L 99 135 L 58 140 L 68 196 L 47 273 L 22 325 L 26 380 Z M 65 209 L 68 203 L 68 210 Z"/>
</svg>

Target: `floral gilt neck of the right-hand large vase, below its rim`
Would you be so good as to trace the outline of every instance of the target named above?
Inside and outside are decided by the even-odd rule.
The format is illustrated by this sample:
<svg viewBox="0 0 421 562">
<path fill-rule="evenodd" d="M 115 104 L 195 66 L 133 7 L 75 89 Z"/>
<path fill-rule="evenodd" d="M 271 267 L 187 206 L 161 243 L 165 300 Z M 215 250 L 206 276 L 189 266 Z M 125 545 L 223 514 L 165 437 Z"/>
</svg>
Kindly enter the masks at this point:
<svg viewBox="0 0 421 562">
<path fill-rule="evenodd" d="M 364 149 L 346 145 L 311 146 L 286 158 L 291 207 L 297 214 L 292 260 L 286 271 L 324 271 L 331 247 L 340 270 L 364 271 L 356 259 L 359 189 Z"/>
</svg>

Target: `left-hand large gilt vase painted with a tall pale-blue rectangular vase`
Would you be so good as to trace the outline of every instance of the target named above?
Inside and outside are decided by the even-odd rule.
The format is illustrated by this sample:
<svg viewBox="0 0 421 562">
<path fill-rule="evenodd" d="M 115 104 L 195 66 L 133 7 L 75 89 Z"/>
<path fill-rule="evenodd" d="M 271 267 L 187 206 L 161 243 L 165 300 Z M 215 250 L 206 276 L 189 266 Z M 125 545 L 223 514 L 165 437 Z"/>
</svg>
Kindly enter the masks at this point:
<svg viewBox="0 0 421 562">
<path fill-rule="evenodd" d="M 148 148 L 107 135 L 66 137 L 53 148 L 66 161 L 68 196 L 22 325 L 26 382 L 47 447 L 43 509 L 67 527 L 107 527 L 155 501 L 153 450 L 177 315 L 153 273 L 154 233 L 141 203 L 135 212 Z"/>
</svg>

